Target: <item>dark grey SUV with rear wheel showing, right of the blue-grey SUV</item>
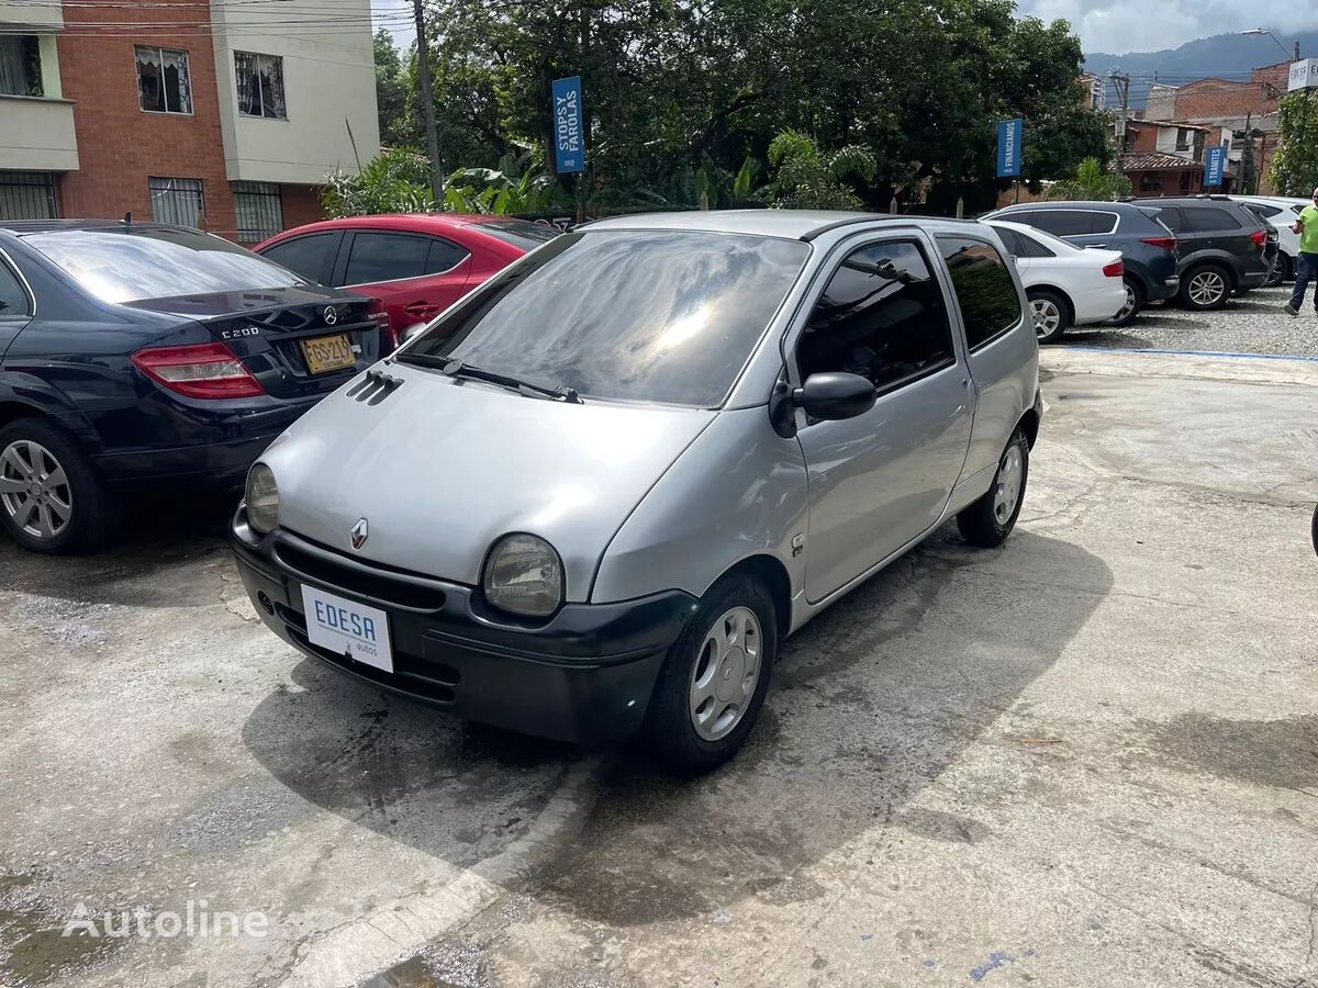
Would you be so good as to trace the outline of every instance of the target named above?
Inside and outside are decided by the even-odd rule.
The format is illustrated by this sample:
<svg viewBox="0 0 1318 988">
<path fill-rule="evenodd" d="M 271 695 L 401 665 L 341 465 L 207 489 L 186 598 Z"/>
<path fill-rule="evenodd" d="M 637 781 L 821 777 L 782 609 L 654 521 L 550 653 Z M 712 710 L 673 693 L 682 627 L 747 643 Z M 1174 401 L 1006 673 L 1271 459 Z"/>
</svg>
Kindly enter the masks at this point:
<svg viewBox="0 0 1318 988">
<path fill-rule="evenodd" d="M 1220 308 L 1231 292 L 1263 287 L 1277 257 L 1276 236 L 1244 203 L 1224 195 L 1143 199 L 1181 244 L 1181 304 Z M 1271 252 L 1271 257 L 1269 257 Z"/>
</svg>

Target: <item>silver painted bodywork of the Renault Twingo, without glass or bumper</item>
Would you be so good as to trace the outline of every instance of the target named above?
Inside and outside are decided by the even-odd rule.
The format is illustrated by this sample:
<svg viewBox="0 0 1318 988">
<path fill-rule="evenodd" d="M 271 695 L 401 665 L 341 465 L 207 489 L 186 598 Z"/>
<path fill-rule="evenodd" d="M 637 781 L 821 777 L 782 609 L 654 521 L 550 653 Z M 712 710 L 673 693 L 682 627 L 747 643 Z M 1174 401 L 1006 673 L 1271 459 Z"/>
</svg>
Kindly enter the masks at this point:
<svg viewBox="0 0 1318 988">
<path fill-rule="evenodd" d="M 751 209 L 629 216 L 584 229 L 695 229 L 808 237 L 811 257 L 721 410 L 539 400 L 391 362 L 405 385 L 368 407 L 343 391 L 261 457 L 281 491 L 281 526 L 355 555 L 476 585 L 507 532 L 547 539 L 568 601 L 618 602 L 663 590 L 704 594 L 763 556 L 791 586 L 795 630 L 987 491 L 1033 406 L 1037 344 L 1024 290 L 991 228 L 866 213 Z M 992 244 L 1021 319 L 967 352 L 936 245 L 940 233 Z M 956 364 L 879 397 L 866 415 L 784 439 L 767 399 L 811 307 L 841 258 L 891 237 L 925 246 L 942 286 Z M 405 344 L 406 349 L 406 344 Z"/>
</svg>

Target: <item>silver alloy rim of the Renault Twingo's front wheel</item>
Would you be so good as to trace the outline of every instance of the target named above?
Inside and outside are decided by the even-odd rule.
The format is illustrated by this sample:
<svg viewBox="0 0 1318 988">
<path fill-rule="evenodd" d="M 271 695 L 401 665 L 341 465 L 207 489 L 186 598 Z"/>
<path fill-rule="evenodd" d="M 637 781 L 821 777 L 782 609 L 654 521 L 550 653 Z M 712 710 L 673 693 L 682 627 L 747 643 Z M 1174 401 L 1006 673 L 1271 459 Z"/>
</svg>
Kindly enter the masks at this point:
<svg viewBox="0 0 1318 988">
<path fill-rule="evenodd" d="M 750 607 L 733 607 L 710 624 L 691 671 L 691 725 L 701 739 L 720 740 L 741 723 L 759 682 L 763 648 Z"/>
</svg>

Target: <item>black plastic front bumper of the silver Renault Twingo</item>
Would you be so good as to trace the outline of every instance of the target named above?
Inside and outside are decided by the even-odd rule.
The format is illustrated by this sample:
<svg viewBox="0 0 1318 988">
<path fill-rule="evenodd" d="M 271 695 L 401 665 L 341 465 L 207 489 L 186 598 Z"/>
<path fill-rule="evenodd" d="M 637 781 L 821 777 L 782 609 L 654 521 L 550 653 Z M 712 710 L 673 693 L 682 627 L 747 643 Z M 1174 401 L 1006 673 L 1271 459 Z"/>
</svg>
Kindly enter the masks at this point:
<svg viewBox="0 0 1318 988">
<path fill-rule="evenodd" d="M 473 588 L 355 560 L 277 530 L 231 528 L 257 614 L 293 647 L 382 689 L 457 717 L 575 743 L 621 740 L 645 719 L 668 648 L 696 607 L 680 590 L 622 603 L 568 603 L 548 620 L 492 614 Z M 302 585 L 389 614 L 394 672 L 307 639 Z"/>
</svg>

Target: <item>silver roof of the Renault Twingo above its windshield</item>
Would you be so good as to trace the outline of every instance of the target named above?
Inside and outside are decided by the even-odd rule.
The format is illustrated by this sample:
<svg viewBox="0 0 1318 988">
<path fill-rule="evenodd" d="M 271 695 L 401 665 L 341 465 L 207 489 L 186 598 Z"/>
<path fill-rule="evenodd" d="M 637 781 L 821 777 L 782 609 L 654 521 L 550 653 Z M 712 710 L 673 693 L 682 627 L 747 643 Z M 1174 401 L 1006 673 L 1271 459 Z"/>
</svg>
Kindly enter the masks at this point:
<svg viewBox="0 0 1318 988">
<path fill-rule="evenodd" d="M 975 220 L 883 212 L 847 212 L 842 209 L 692 209 L 687 212 L 645 212 L 631 216 L 610 216 L 602 220 L 593 220 L 575 229 L 672 229 L 815 240 L 822 233 L 842 227 L 882 223 L 900 223 L 909 227 L 912 224 L 974 224 Z"/>
</svg>

